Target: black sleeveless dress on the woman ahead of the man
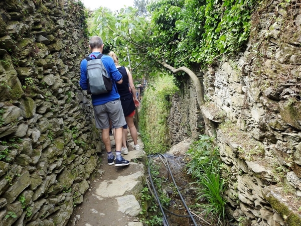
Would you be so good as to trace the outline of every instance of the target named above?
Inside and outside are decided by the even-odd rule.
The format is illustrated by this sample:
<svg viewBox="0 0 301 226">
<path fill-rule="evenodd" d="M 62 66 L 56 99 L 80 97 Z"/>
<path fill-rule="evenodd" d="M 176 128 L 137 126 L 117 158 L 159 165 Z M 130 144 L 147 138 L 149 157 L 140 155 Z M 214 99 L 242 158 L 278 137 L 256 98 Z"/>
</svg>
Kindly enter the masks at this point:
<svg viewBox="0 0 301 226">
<path fill-rule="evenodd" d="M 136 107 L 133 100 L 133 96 L 129 91 L 128 76 L 126 73 L 126 69 L 125 67 L 118 67 L 117 69 L 122 75 L 122 83 L 121 84 L 116 83 L 116 87 L 120 95 L 124 117 L 127 117 L 128 115 L 131 114 L 131 112 L 133 112 L 136 109 Z"/>
</svg>

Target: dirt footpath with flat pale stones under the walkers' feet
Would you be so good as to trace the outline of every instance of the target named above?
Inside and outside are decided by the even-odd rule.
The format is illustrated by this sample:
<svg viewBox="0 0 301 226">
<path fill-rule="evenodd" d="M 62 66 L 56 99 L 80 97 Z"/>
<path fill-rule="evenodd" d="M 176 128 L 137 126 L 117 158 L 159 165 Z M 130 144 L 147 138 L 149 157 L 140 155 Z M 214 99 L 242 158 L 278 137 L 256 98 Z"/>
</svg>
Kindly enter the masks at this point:
<svg viewBox="0 0 301 226">
<path fill-rule="evenodd" d="M 114 147 L 114 138 L 110 138 Z M 137 217 L 141 207 L 135 196 L 143 187 L 145 167 L 141 160 L 146 155 L 139 137 L 138 144 L 141 150 L 136 151 L 128 136 L 129 152 L 123 155 L 130 161 L 128 166 L 109 166 L 107 155 L 102 152 L 102 165 L 94 178 L 90 178 L 89 190 L 74 209 L 68 226 L 142 226 Z"/>
</svg>

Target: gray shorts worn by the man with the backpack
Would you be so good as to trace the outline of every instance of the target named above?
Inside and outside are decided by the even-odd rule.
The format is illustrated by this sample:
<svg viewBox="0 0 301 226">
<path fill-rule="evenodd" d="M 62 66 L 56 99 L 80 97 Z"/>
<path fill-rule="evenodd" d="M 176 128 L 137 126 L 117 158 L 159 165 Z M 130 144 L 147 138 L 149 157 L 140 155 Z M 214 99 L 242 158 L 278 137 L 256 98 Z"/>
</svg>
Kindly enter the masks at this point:
<svg viewBox="0 0 301 226">
<path fill-rule="evenodd" d="M 95 105 L 94 116 L 96 128 L 110 128 L 109 119 L 114 128 L 120 128 L 126 124 L 120 99 L 109 101 L 101 105 Z"/>
</svg>

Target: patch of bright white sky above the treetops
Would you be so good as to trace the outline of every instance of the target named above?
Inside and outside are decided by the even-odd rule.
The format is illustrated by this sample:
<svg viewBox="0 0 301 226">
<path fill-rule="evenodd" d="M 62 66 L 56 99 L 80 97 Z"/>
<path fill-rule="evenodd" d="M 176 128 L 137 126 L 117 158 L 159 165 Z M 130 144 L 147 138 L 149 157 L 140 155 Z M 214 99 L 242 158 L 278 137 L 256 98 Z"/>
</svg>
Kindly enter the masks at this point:
<svg viewBox="0 0 301 226">
<path fill-rule="evenodd" d="M 132 7 L 134 5 L 133 0 L 81 0 L 81 2 L 90 10 L 95 10 L 99 7 L 106 7 L 113 12 L 124 8 L 124 5 L 126 7 Z"/>
</svg>

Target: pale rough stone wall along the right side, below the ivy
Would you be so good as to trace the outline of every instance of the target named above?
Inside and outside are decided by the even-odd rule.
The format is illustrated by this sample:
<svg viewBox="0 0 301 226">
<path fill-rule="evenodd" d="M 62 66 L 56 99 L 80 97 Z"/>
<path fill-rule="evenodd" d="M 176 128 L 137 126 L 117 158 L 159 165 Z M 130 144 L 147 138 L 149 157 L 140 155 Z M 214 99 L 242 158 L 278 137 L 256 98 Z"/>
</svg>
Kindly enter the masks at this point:
<svg viewBox="0 0 301 226">
<path fill-rule="evenodd" d="M 264 2 L 246 51 L 204 71 L 202 115 L 225 163 L 236 224 L 301 225 L 300 9 L 296 0 Z"/>
</svg>

